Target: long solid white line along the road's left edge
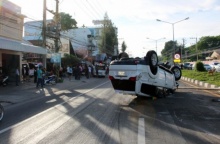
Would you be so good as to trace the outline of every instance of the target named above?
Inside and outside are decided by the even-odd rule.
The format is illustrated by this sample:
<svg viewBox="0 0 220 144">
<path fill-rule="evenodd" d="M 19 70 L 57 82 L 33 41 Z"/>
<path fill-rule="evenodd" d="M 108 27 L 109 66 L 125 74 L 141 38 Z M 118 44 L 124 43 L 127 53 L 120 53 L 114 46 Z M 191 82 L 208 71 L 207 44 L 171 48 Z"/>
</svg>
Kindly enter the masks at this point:
<svg viewBox="0 0 220 144">
<path fill-rule="evenodd" d="M 98 85 L 98 86 L 96 86 L 96 87 L 94 87 L 94 88 L 92 88 L 92 89 L 89 89 L 89 90 L 85 91 L 84 93 L 81 93 L 81 94 L 79 94 L 79 95 L 77 95 L 77 96 L 75 96 L 75 97 L 69 99 L 68 101 L 71 101 L 71 100 L 75 99 L 76 97 L 82 96 L 82 95 L 84 95 L 84 94 L 86 94 L 86 93 L 88 93 L 88 92 L 90 92 L 90 91 L 92 91 L 92 90 L 94 90 L 94 89 L 96 89 L 96 88 L 98 88 L 98 87 L 100 87 L 100 86 L 102 86 L 102 85 L 108 83 L 108 82 L 109 82 L 109 81 L 107 81 L 107 82 L 105 82 L 105 83 L 102 83 L 102 84 L 100 84 L 100 85 Z M 25 122 L 27 122 L 27 121 L 29 121 L 29 120 L 32 120 L 32 119 L 36 118 L 37 116 L 39 116 L 39 115 L 41 115 L 41 114 L 44 114 L 44 113 L 50 111 L 51 109 L 56 108 L 56 107 L 59 106 L 59 105 L 63 105 L 63 104 L 65 104 L 65 103 L 67 103 L 68 101 L 62 102 L 62 103 L 60 103 L 60 104 L 58 104 L 58 105 L 56 105 L 56 106 L 54 106 L 54 107 L 51 107 L 51 108 L 49 108 L 49 109 L 47 109 L 47 110 L 45 110 L 45 111 L 43 111 L 43 112 L 41 112 L 41 113 L 38 113 L 38 114 L 36 114 L 36 115 L 34 115 L 34 116 L 32 116 L 32 117 L 30 117 L 30 118 L 28 118 L 28 119 L 26 119 L 26 120 L 20 122 L 20 123 L 17 123 L 17 124 L 14 124 L 14 125 L 10 126 L 10 127 L 7 127 L 7 128 L 5 128 L 5 129 L 2 129 L 2 130 L 0 130 L 0 134 L 4 133 L 4 132 L 6 132 L 6 131 L 9 131 L 9 130 L 15 128 L 15 127 L 18 127 L 18 126 L 22 125 L 23 123 L 25 123 Z"/>
</svg>

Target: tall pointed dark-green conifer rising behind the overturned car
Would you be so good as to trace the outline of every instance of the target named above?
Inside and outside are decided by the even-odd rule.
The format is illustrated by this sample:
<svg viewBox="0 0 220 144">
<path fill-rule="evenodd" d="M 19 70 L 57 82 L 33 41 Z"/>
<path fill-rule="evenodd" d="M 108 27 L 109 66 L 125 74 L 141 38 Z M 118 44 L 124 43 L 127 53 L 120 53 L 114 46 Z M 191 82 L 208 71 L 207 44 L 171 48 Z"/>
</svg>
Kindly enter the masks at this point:
<svg viewBox="0 0 220 144">
<path fill-rule="evenodd" d="M 106 53 L 108 56 L 114 55 L 115 46 L 118 44 L 117 28 L 109 19 L 107 13 L 103 20 L 103 30 L 99 42 L 99 51 Z"/>
</svg>

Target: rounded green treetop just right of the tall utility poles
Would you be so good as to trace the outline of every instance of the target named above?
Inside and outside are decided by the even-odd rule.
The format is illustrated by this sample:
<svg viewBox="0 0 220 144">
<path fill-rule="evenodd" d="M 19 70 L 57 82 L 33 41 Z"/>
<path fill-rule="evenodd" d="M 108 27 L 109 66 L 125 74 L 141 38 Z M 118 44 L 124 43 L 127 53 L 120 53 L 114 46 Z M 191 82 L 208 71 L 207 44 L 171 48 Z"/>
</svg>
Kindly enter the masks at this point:
<svg viewBox="0 0 220 144">
<path fill-rule="evenodd" d="M 72 19 L 72 16 L 61 12 L 60 15 L 60 23 L 61 23 L 61 30 L 68 31 L 69 29 L 77 28 L 77 22 L 75 19 Z"/>
</svg>

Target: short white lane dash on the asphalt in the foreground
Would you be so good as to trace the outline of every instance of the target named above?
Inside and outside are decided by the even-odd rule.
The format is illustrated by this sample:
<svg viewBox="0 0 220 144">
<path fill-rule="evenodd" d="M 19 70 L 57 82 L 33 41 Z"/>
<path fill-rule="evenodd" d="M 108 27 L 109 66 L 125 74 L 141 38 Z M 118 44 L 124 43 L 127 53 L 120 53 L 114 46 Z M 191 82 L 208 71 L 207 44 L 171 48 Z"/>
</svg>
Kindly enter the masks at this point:
<svg viewBox="0 0 220 144">
<path fill-rule="evenodd" d="M 138 120 L 138 144 L 145 144 L 145 126 L 144 118 Z"/>
</svg>

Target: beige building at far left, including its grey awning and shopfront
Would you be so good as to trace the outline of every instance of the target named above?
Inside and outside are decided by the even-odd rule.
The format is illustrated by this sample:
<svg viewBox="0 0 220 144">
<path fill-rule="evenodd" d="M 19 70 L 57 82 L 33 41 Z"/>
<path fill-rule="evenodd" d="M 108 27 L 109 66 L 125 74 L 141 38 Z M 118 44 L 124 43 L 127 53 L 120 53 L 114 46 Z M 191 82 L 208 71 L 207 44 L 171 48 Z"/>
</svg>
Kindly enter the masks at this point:
<svg viewBox="0 0 220 144">
<path fill-rule="evenodd" d="M 0 72 L 15 81 L 15 69 L 22 69 L 22 58 L 26 53 L 43 55 L 46 50 L 23 41 L 25 16 L 21 7 L 8 0 L 0 0 Z M 20 77 L 21 79 L 21 77 Z"/>
</svg>

